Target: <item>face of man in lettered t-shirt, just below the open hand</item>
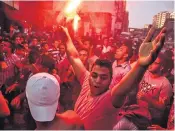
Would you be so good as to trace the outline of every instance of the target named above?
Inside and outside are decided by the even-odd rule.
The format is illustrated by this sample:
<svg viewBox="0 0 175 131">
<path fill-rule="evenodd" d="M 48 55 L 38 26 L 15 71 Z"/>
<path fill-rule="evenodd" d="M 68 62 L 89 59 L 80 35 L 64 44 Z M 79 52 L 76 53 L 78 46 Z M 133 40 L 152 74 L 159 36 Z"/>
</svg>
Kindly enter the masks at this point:
<svg viewBox="0 0 175 131">
<path fill-rule="evenodd" d="M 149 66 L 148 70 L 149 70 L 149 72 L 151 72 L 151 73 L 153 73 L 153 74 L 156 74 L 156 73 L 160 72 L 161 68 L 162 68 L 162 66 L 161 66 L 161 59 L 158 57 L 158 58 L 154 61 L 154 63 L 152 63 L 152 64 Z"/>
</svg>

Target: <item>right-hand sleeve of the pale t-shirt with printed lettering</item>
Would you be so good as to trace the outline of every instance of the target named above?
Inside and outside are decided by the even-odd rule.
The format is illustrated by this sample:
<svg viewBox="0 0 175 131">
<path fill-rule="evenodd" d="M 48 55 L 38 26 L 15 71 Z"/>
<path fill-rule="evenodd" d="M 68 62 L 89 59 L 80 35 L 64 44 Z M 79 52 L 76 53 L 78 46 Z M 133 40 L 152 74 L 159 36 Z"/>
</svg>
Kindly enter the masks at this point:
<svg viewBox="0 0 175 131">
<path fill-rule="evenodd" d="M 170 103 L 170 98 L 173 95 L 172 86 L 168 80 L 163 81 L 162 88 L 159 95 L 159 101 L 165 105 Z"/>
</svg>

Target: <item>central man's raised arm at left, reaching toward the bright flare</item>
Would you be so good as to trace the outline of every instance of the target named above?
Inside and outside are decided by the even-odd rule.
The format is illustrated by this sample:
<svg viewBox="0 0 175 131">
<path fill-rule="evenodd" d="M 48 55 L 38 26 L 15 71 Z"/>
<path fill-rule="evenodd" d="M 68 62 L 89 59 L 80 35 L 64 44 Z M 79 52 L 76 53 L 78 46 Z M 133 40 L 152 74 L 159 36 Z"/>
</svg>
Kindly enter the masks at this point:
<svg viewBox="0 0 175 131">
<path fill-rule="evenodd" d="M 76 50 L 76 48 L 72 42 L 72 39 L 69 35 L 67 28 L 65 28 L 65 27 L 60 27 L 60 28 L 62 29 L 62 31 L 64 32 L 64 35 L 66 37 L 65 45 L 66 45 L 67 57 L 69 59 L 69 62 L 73 66 L 73 69 L 74 69 L 76 76 L 79 79 L 80 76 L 82 75 L 82 73 L 86 71 L 86 68 L 79 58 L 78 51 Z"/>
</svg>

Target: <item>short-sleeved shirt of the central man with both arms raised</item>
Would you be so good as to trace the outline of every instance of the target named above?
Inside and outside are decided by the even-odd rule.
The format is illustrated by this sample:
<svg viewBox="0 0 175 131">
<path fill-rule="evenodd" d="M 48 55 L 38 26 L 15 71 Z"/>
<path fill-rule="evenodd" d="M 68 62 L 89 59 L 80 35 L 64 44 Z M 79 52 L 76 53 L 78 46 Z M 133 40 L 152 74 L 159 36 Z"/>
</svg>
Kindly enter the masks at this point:
<svg viewBox="0 0 175 131">
<path fill-rule="evenodd" d="M 112 130 L 116 124 L 118 109 L 114 108 L 110 90 L 98 96 L 90 96 L 89 72 L 81 75 L 82 86 L 75 104 L 75 112 L 83 120 L 86 130 Z"/>
</svg>

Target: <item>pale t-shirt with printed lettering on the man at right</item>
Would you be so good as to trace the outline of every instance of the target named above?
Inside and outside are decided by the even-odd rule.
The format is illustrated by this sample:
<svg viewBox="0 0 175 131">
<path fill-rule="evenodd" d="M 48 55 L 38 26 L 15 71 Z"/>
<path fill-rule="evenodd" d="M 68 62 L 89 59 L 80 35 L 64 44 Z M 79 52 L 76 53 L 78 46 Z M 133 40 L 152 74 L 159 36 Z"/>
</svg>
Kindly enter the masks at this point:
<svg viewBox="0 0 175 131">
<path fill-rule="evenodd" d="M 172 96 L 172 87 L 169 81 L 161 76 L 152 78 L 150 72 L 147 71 L 139 84 L 139 92 L 144 92 L 146 97 L 152 97 L 157 101 L 166 101 L 168 104 Z M 154 107 L 151 107 L 149 103 L 138 100 L 140 106 L 148 107 L 151 117 L 154 120 L 161 120 L 164 111 L 160 111 Z"/>
</svg>

